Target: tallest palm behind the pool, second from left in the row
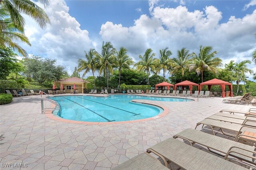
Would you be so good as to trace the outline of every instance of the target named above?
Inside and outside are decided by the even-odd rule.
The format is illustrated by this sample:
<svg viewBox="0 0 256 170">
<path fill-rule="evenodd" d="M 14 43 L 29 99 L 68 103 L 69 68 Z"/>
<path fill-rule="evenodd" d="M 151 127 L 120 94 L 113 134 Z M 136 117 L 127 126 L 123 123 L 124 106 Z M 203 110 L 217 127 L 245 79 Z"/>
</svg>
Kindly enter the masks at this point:
<svg viewBox="0 0 256 170">
<path fill-rule="evenodd" d="M 115 59 L 116 49 L 113 47 L 111 42 L 102 42 L 101 54 L 95 53 L 99 64 L 99 74 L 104 73 L 107 80 L 108 88 L 108 73 L 113 73 L 114 59 Z"/>
</svg>

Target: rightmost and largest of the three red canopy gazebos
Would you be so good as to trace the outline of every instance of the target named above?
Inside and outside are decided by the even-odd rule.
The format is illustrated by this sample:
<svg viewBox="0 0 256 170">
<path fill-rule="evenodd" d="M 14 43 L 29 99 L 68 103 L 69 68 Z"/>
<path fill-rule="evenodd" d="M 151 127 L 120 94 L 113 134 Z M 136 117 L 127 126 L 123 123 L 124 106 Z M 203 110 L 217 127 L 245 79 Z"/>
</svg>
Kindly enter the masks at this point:
<svg viewBox="0 0 256 170">
<path fill-rule="evenodd" d="M 232 83 L 228 83 L 226 81 L 223 80 L 219 80 L 219 79 L 212 79 L 209 81 L 206 81 L 204 83 L 200 83 L 200 89 L 202 90 L 203 85 L 208 85 L 208 90 L 210 91 L 212 85 L 220 85 L 220 88 L 222 89 L 222 97 L 225 97 L 225 85 L 228 85 L 228 88 L 230 90 L 230 97 L 233 97 L 233 91 L 232 91 Z"/>
</svg>

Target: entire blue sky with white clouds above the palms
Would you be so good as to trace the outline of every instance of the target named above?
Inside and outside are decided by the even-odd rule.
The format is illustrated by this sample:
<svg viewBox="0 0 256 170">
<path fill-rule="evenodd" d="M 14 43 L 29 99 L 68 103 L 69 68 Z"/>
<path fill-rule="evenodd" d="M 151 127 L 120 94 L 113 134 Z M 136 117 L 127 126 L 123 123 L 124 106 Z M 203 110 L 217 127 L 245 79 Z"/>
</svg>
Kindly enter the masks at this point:
<svg viewBox="0 0 256 170">
<path fill-rule="evenodd" d="M 51 21 L 44 30 L 24 16 L 32 45 L 21 46 L 56 59 L 70 75 L 84 51 L 101 52 L 103 41 L 125 47 L 135 62 L 148 48 L 159 57 L 169 47 L 176 57 L 182 47 L 198 53 L 210 45 L 223 65 L 252 60 L 256 49 L 256 0 L 50 0 L 44 10 Z M 254 63 L 248 67 L 256 72 Z"/>
</svg>

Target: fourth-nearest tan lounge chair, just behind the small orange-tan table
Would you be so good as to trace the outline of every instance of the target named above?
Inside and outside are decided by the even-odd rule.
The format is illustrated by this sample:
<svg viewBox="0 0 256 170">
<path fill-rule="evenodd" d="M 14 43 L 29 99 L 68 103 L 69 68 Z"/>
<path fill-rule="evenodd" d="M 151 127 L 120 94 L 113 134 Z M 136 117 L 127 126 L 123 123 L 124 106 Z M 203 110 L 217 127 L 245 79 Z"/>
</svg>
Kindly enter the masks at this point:
<svg viewBox="0 0 256 170">
<path fill-rule="evenodd" d="M 208 125 L 210 127 L 209 130 L 212 130 L 212 133 L 215 135 L 214 132 L 219 132 L 219 130 L 221 130 L 221 133 L 227 136 L 231 136 L 231 137 L 236 137 L 238 134 L 242 133 L 244 130 L 246 131 L 250 131 L 255 133 L 256 132 L 256 128 L 255 127 L 251 127 L 251 126 L 244 126 L 244 125 L 238 125 L 238 124 L 234 124 L 234 123 L 228 123 L 228 122 L 222 122 L 222 121 L 218 121 L 218 120 L 213 120 L 213 119 L 204 119 L 200 122 L 198 122 L 196 124 L 195 129 L 199 126 L 199 125 L 203 125 L 202 128 L 204 127 L 204 125 Z M 219 128 L 218 131 L 214 130 L 214 128 Z M 230 134 L 228 132 L 224 132 L 224 129 L 228 130 L 228 131 L 233 131 L 235 134 Z"/>
</svg>

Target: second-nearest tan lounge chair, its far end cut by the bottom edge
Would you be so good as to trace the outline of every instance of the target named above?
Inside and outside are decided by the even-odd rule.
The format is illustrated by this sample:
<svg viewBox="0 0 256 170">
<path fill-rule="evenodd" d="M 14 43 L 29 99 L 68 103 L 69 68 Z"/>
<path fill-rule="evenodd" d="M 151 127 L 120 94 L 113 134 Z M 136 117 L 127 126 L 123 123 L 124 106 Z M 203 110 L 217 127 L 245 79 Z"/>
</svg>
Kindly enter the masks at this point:
<svg viewBox="0 0 256 170">
<path fill-rule="evenodd" d="M 168 138 L 148 148 L 147 152 L 159 156 L 165 166 L 169 161 L 184 170 L 248 170 L 174 138 Z"/>
</svg>

